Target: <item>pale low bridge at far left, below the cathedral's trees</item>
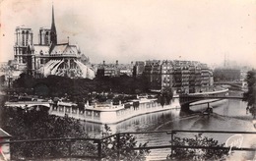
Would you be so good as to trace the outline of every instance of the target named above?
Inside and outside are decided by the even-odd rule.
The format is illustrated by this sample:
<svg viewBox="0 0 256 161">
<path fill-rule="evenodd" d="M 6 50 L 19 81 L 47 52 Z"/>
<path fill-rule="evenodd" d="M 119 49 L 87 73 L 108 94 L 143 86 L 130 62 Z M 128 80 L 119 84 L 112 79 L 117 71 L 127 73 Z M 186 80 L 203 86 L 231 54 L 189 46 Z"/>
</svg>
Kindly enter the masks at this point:
<svg viewBox="0 0 256 161">
<path fill-rule="evenodd" d="M 6 102 L 6 107 L 20 107 L 22 109 L 27 108 L 37 108 L 37 107 L 47 107 L 50 108 L 50 103 L 48 101 L 17 101 L 17 102 Z"/>
</svg>

